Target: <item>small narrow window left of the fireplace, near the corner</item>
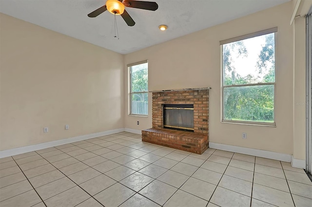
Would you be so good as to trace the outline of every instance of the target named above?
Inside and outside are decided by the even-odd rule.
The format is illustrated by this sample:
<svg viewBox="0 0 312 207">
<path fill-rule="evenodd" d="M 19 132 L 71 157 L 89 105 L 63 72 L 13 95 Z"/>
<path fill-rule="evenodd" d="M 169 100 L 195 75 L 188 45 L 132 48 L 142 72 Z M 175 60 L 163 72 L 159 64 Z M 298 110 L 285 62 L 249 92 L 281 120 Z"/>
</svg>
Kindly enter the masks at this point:
<svg viewBox="0 0 312 207">
<path fill-rule="evenodd" d="M 148 63 L 128 65 L 130 71 L 130 115 L 148 115 Z"/>
</svg>

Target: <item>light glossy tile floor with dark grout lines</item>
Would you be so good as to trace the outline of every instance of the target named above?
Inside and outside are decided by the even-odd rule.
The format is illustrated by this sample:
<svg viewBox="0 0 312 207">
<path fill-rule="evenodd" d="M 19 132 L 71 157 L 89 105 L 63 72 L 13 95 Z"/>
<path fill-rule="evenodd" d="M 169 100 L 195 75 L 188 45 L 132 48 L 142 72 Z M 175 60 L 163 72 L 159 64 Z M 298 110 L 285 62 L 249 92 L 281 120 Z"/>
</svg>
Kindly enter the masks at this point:
<svg viewBox="0 0 312 207">
<path fill-rule="evenodd" d="M 312 182 L 287 162 L 121 132 L 0 159 L 0 206 L 311 207 Z"/>
</svg>

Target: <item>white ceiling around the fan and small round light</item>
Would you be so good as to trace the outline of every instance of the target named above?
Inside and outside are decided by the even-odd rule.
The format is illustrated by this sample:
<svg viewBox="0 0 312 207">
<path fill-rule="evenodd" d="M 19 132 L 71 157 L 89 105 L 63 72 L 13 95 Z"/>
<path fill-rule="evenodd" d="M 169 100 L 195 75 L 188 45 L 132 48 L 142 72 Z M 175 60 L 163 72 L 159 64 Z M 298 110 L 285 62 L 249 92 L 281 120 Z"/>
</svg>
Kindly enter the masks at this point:
<svg viewBox="0 0 312 207">
<path fill-rule="evenodd" d="M 126 7 L 136 22 L 133 27 L 117 16 L 119 39 L 114 38 L 114 15 L 106 11 L 87 17 L 106 0 L 0 0 L 0 12 L 126 54 L 290 0 L 154 1 L 156 11 Z M 168 25 L 168 30 L 160 31 L 160 24 Z"/>
</svg>

